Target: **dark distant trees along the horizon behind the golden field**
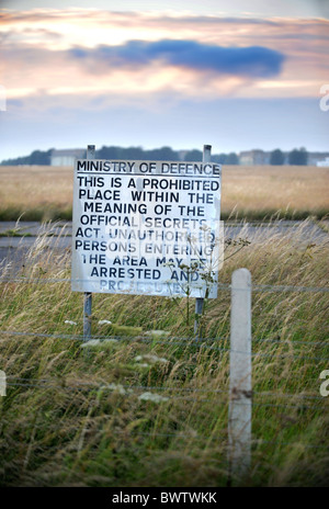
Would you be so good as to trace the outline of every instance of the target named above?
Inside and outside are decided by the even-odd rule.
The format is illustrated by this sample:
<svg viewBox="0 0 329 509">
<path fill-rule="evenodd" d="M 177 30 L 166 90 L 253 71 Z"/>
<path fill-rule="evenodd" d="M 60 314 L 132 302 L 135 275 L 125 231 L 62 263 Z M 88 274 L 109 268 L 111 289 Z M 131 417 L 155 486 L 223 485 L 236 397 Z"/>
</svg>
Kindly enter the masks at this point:
<svg viewBox="0 0 329 509">
<path fill-rule="evenodd" d="M 1 166 L 19 166 L 19 165 L 41 165 L 49 166 L 52 163 L 52 151 L 34 150 L 30 156 L 18 157 L 15 159 L 3 160 Z M 135 159 L 135 160 L 152 160 L 152 161 L 175 161 L 180 159 L 180 151 L 173 150 L 171 147 L 154 148 L 144 150 L 141 147 L 116 147 L 103 146 L 95 151 L 95 157 L 99 159 Z M 202 161 L 203 154 L 201 150 L 188 150 L 184 154 L 184 161 Z M 294 148 L 287 155 L 280 148 L 272 150 L 270 154 L 270 165 L 307 165 L 308 154 L 304 147 L 300 149 Z M 212 156 L 213 162 L 220 165 L 239 165 L 239 156 L 236 152 L 217 154 Z"/>
</svg>

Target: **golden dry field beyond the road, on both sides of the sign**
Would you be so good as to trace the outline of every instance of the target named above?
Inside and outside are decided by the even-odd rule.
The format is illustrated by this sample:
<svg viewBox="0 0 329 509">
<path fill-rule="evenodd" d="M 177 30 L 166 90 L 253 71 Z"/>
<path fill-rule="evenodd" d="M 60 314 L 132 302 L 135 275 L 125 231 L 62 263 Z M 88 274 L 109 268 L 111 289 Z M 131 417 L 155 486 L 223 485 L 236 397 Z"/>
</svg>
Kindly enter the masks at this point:
<svg viewBox="0 0 329 509">
<path fill-rule="evenodd" d="M 0 220 L 71 218 L 71 168 L 0 167 Z M 222 217 L 320 219 L 328 188 L 329 168 L 224 166 Z"/>
</svg>

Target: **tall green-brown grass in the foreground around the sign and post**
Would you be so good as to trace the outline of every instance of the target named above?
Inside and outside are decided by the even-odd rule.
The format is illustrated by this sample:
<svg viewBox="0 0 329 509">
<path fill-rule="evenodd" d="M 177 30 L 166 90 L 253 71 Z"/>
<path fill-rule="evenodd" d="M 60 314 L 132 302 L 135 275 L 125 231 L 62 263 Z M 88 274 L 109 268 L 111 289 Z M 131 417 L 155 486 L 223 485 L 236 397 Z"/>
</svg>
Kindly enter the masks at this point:
<svg viewBox="0 0 329 509">
<path fill-rule="evenodd" d="M 23 281 L 0 285 L 0 485 L 328 486 L 328 293 L 291 286 L 328 286 L 329 247 L 300 242 L 306 226 L 227 251 L 220 272 L 224 284 L 246 267 L 253 284 L 288 285 L 252 295 L 252 464 L 239 482 L 227 463 L 229 291 L 208 303 L 198 342 L 186 299 L 94 294 L 93 336 L 124 338 L 86 350 L 70 337 L 82 333 L 70 253 L 39 238 Z"/>
</svg>

